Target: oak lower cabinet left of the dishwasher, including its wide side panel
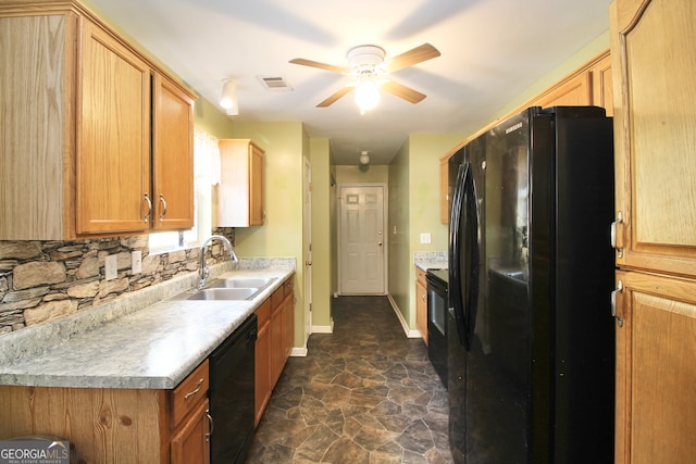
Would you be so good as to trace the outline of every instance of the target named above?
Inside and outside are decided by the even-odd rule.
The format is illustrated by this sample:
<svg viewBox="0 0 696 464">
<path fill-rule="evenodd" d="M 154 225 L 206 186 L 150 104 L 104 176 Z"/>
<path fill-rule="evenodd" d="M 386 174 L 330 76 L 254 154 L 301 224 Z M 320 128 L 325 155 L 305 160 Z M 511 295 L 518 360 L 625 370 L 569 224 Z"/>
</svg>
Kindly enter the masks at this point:
<svg viewBox="0 0 696 464">
<path fill-rule="evenodd" d="M 0 386 L 0 440 L 54 435 L 89 464 L 208 463 L 207 393 L 208 361 L 174 390 Z"/>
</svg>

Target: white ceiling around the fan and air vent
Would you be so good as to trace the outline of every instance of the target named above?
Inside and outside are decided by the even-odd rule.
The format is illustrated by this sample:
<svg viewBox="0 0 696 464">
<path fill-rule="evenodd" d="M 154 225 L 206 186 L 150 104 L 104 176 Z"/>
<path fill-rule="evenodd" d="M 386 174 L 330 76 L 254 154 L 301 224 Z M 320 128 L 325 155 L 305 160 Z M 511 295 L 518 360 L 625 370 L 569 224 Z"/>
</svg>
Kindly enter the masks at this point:
<svg viewBox="0 0 696 464">
<path fill-rule="evenodd" d="M 362 150 L 387 164 L 409 134 L 470 133 L 608 28 L 610 0 L 91 0 L 98 10 L 217 104 L 222 79 L 237 83 L 233 121 L 301 121 L 331 140 L 336 164 Z M 316 103 L 350 81 L 289 64 L 304 58 L 347 65 L 351 47 L 387 59 L 430 42 L 440 57 L 390 78 L 425 95 L 409 103 L 383 92 L 360 115 L 352 92 Z M 270 91 L 281 76 L 293 91 Z"/>
</svg>

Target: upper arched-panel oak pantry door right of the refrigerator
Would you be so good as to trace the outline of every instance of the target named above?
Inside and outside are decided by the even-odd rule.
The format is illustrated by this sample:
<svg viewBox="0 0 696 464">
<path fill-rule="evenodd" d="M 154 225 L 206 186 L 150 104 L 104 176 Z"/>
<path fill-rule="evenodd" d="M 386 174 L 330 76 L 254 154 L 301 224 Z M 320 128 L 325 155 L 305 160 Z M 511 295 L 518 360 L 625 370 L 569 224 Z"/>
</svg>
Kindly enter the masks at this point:
<svg viewBox="0 0 696 464">
<path fill-rule="evenodd" d="M 693 0 L 612 3 L 617 262 L 696 276 Z"/>
</svg>

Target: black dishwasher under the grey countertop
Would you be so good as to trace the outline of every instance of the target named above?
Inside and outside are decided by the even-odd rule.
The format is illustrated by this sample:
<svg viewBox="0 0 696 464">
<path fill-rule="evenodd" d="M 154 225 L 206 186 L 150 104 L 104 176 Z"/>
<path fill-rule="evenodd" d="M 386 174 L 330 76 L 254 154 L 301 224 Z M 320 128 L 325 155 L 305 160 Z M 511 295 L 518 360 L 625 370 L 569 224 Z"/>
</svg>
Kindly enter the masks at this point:
<svg viewBox="0 0 696 464">
<path fill-rule="evenodd" d="M 251 444 L 256 339 L 257 315 L 251 314 L 210 355 L 212 464 L 244 463 Z"/>
</svg>

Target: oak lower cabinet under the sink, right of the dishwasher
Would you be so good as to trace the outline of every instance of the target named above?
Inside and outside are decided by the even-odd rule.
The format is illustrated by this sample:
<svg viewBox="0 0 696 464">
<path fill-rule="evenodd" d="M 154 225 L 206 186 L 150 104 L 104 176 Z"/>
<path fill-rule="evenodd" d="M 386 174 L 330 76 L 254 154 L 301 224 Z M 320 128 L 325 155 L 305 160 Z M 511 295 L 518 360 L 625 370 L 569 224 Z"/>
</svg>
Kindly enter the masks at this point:
<svg viewBox="0 0 696 464">
<path fill-rule="evenodd" d="M 295 342 L 294 279 L 288 278 L 256 311 L 254 417 L 258 425 Z"/>
</svg>

